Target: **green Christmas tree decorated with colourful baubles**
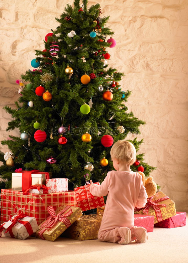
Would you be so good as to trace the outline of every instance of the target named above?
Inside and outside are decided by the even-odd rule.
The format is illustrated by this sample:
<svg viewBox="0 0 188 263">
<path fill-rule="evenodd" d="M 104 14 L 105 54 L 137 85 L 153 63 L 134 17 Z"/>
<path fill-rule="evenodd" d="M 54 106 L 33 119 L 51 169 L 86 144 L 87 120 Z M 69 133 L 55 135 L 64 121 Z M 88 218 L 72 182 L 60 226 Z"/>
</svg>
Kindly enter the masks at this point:
<svg viewBox="0 0 188 263">
<path fill-rule="evenodd" d="M 101 17 L 99 4 L 87 8 L 87 3 L 67 4 L 56 18 L 59 26 L 45 37 L 45 49 L 35 50 L 31 65 L 37 69 L 21 76 L 17 109 L 4 106 L 13 118 L 7 131 L 19 128 L 20 136 L 2 141 L 16 158 L 10 156 L 6 163 L 1 152 L 1 188 L 11 188 L 12 172 L 18 168 L 52 171 L 53 178 L 72 182 L 69 190 L 85 184 L 85 174 L 101 183 L 114 169 L 110 146 L 130 132 L 139 134 L 145 124 L 127 112 L 131 91 L 122 91 L 119 83 L 124 74 L 108 67 L 116 45 L 106 26 L 109 16 Z M 143 140 L 132 143 L 138 151 Z M 143 166 L 148 176 L 155 168 L 143 157 L 138 154 L 131 169 Z"/>
</svg>

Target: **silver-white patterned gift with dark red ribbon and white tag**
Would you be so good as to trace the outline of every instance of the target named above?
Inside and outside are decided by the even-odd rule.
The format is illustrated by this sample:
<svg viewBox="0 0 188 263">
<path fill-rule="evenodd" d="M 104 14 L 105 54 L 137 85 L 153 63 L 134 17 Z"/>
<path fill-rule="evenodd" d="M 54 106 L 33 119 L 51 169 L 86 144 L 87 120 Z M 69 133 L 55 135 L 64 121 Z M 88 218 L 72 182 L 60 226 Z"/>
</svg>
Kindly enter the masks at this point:
<svg viewBox="0 0 188 263">
<path fill-rule="evenodd" d="M 16 216 L 18 217 L 17 222 L 13 227 L 11 227 L 11 221 L 2 224 L 3 227 L 5 227 L 7 223 L 7 227 L 9 226 L 8 229 L 6 227 L 6 229 L 3 230 L 5 236 L 15 237 L 24 240 L 39 229 L 36 219 L 34 217 L 25 216 L 20 218 L 19 215 Z M 12 217 L 12 219 L 14 219 L 14 217 Z M 9 231 L 6 233 L 7 230 Z"/>
</svg>

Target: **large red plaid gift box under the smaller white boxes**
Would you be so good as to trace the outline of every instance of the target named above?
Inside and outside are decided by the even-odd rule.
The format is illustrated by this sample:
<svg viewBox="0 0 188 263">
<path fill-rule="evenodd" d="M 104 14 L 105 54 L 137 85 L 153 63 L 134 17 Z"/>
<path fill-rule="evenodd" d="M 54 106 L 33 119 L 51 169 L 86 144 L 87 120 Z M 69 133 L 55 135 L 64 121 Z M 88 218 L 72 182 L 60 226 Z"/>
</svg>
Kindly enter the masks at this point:
<svg viewBox="0 0 188 263">
<path fill-rule="evenodd" d="M 39 225 L 48 216 L 47 207 L 52 205 L 56 210 L 61 205 L 77 206 L 74 191 L 23 195 L 23 192 L 1 189 L 1 223 L 7 221 L 10 216 L 19 213 L 35 217 Z"/>
</svg>

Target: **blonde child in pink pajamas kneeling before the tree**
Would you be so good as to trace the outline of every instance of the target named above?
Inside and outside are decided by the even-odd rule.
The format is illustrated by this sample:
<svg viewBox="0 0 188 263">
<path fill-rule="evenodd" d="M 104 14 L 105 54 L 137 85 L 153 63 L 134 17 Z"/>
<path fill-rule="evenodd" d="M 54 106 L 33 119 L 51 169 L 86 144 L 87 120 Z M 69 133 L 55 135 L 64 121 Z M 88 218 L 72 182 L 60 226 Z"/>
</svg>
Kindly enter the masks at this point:
<svg viewBox="0 0 188 263">
<path fill-rule="evenodd" d="M 117 141 L 110 155 L 116 171 L 107 173 L 101 185 L 91 181 L 90 193 L 94 196 L 108 194 L 103 219 L 98 232 L 100 241 L 128 244 L 147 240 L 146 229 L 134 226 L 134 208 L 147 203 L 142 176 L 131 171 L 136 160 L 136 149 L 129 141 Z"/>
</svg>

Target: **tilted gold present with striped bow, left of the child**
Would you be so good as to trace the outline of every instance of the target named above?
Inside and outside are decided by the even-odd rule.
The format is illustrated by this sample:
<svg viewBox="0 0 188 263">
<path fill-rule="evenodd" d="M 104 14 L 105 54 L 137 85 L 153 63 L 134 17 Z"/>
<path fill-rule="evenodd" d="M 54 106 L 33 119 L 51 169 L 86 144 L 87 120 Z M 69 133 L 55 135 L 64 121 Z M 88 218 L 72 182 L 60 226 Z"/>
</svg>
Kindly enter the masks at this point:
<svg viewBox="0 0 188 263">
<path fill-rule="evenodd" d="M 49 206 L 47 210 L 50 216 L 39 225 L 39 230 L 34 235 L 49 241 L 56 240 L 82 215 L 81 209 L 75 206 L 62 205 L 56 211 L 54 211 L 53 206 Z"/>
</svg>

